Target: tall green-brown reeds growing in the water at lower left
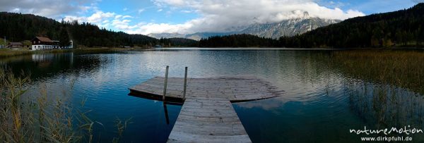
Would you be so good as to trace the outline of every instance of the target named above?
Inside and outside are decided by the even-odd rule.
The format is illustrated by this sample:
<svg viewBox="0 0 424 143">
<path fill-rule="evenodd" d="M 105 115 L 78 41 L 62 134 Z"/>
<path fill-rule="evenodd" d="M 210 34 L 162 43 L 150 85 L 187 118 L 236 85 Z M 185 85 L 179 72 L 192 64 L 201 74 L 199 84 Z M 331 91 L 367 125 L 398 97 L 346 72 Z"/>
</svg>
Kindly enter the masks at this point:
<svg viewBox="0 0 424 143">
<path fill-rule="evenodd" d="M 0 69 L 0 140 L 3 142 L 93 142 L 95 124 L 90 111 L 80 111 L 71 103 L 73 83 L 61 94 L 50 95 L 42 85 L 40 94 L 28 94 L 29 75 L 15 75 Z M 81 101 L 84 106 L 86 99 Z M 131 119 L 117 118 L 117 137 Z"/>
</svg>

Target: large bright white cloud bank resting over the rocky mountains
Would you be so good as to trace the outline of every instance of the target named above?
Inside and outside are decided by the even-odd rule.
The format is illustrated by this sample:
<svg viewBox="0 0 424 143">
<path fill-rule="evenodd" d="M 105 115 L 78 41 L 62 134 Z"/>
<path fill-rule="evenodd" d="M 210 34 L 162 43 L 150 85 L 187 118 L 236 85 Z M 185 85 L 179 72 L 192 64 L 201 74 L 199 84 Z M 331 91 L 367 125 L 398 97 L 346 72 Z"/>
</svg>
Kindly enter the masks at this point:
<svg viewBox="0 0 424 143">
<path fill-rule="evenodd" d="M 181 11 L 194 10 L 200 15 L 199 18 L 179 24 L 183 27 L 167 25 L 173 27 L 172 31 L 179 30 L 179 33 L 239 30 L 252 23 L 275 23 L 299 18 L 304 12 L 308 12 L 311 17 L 338 20 L 365 15 L 352 9 L 343 11 L 341 8 L 319 6 L 314 0 L 153 0 L 153 3 L 160 9 L 171 7 Z"/>
</svg>

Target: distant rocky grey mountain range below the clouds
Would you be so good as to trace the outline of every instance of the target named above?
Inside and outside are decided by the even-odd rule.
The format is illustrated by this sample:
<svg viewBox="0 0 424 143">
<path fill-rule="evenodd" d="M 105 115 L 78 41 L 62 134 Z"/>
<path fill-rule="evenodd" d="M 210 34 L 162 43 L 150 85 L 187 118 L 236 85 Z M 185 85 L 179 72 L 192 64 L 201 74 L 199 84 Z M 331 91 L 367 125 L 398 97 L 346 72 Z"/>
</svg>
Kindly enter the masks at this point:
<svg viewBox="0 0 424 143">
<path fill-rule="evenodd" d="M 256 35 L 259 37 L 267 37 L 277 39 L 282 36 L 295 36 L 305 32 L 317 29 L 318 27 L 324 27 L 334 23 L 339 23 L 341 20 L 329 20 L 323 18 L 310 17 L 307 12 L 304 13 L 303 17 L 291 18 L 288 20 L 282 20 L 278 23 L 254 23 L 248 25 L 245 28 L 232 32 L 196 32 L 189 35 L 182 35 L 179 33 L 157 33 L 149 34 L 150 37 L 155 38 L 187 38 L 187 39 L 206 39 L 213 36 L 224 36 L 224 35 L 237 35 L 237 34 L 248 34 Z"/>
</svg>

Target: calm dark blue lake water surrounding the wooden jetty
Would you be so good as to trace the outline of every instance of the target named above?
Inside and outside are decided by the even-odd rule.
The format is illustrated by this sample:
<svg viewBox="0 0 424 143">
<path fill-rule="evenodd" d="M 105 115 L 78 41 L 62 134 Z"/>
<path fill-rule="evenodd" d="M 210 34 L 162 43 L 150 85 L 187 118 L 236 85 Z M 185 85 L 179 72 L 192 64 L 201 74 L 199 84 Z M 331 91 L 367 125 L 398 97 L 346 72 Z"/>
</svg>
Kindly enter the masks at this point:
<svg viewBox="0 0 424 143">
<path fill-rule="evenodd" d="M 92 110 L 95 142 L 117 137 L 114 120 L 132 118 L 123 142 L 165 142 L 181 106 L 129 96 L 128 87 L 165 73 L 183 77 L 254 75 L 280 89 L 282 97 L 232 104 L 253 142 L 359 142 L 349 129 L 377 129 L 397 125 L 424 129 L 422 95 L 390 86 L 391 102 L 375 98 L 372 82 L 348 77 L 331 61 L 331 51 L 287 50 L 157 50 L 113 54 L 35 54 L 0 59 L 2 67 L 31 73 L 30 88 L 47 85 L 50 94 L 61 93 L 75 81 L 75 108 Z M 30 92 L 36 95 L 37 92 Z M 81 100 L 87 98 L 85 106 Z M 391 103 L 389 101 L 389 103 Z M 384 114 L 384 115 L 382 115 Z M 386 117 L 387 115 L 391 115 Z M 382 116 L 387 120 L 381 120 Z M 423 134 L 410 135 L 416 142 Z M 365 136 L 366 137 L 366 136 Z"/>
</svg>

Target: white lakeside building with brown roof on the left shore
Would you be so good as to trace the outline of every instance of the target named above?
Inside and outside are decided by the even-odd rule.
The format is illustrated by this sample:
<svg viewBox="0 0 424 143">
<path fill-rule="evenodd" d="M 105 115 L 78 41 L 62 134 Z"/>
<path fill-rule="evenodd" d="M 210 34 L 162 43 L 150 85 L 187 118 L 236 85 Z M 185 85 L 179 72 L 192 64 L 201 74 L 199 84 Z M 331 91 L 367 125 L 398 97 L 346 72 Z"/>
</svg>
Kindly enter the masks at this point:
<svg viewBox="0 0 424 143">
<path fill-rule="evenodd" d="M 35 37 L 31 40 L 31 50 L 41 49 L 70 49 L 73 48 L 73 42 L 69 46 L 59 46 L 59 41 L 49 39 L 48 37 Z"/>
</svg>

